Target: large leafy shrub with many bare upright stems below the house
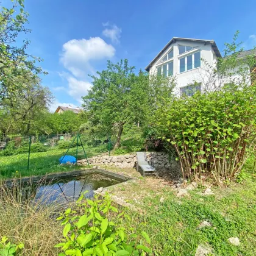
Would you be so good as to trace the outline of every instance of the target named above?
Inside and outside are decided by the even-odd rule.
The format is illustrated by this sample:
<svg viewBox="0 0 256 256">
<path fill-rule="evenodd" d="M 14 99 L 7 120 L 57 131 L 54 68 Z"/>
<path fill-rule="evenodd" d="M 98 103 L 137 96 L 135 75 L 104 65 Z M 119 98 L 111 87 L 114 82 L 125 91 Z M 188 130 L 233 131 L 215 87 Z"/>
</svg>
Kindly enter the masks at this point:
<svg viewBox="0 0 256 256">
<path fill-rule="evenodd" d="M 158 110 L 158 132 L 190 179 L 234 179 L 255 149 L 255 86 L 177 98 Z"/>
</svg>

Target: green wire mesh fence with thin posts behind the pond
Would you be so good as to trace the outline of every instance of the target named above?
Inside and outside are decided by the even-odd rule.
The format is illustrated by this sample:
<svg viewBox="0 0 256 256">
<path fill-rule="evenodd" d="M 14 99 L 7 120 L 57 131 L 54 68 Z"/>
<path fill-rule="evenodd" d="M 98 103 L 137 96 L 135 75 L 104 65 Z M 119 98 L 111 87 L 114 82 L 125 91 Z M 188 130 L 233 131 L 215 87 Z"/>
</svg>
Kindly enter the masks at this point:
<svg viewBox="0 0 256 256">
<path fill-rule="evenodd" d="M 65 155 L 76 161 L 113 149 L 110 135 L 88 137 L 80 134 L 52 134 L 40 136 L 0 136 L 0 174 L 10 176 L 15 171 L 35 170 L 59 166 Z M 26 172 L 27 173 L 27 172 Z"/>
</svg>

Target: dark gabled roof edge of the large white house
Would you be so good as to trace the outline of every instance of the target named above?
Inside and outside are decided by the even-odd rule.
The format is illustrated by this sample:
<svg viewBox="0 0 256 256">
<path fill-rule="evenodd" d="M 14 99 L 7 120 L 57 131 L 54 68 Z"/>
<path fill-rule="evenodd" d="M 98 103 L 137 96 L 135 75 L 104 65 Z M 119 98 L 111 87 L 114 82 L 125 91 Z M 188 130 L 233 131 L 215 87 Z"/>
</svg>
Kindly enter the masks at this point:
<svg viewBox="0 0 256 256">
<path fill-rule="evenodd" d="M 212 44 L 213 51 L 216 54 L 216 57 L 221 57 L 221 53 L 219 52 L 219 49 L 215 43 L 214 40 L 202 40 L 202 39 L 194 39 L 194 38 L 183 38 L 183 37 L 172 37 L 172 39 L 166 44 L 166 46 L 160 51 L 157 56 L 152 60 L 151 63 L 149 63 L 148 66 L 146 66 L 146 71 L 149 71 L 149 68 L 153 66 L 153 64 L 157 61 L 157 59 L 163 54 L 163 52 L 166 51 L 166 49 L 172 44 L 175 43 L 176 40 L 181 40 L 181 41 L 195 41 L 195 42 L 201 42 L 201 43 L 210 43 Z"/>
</svg>

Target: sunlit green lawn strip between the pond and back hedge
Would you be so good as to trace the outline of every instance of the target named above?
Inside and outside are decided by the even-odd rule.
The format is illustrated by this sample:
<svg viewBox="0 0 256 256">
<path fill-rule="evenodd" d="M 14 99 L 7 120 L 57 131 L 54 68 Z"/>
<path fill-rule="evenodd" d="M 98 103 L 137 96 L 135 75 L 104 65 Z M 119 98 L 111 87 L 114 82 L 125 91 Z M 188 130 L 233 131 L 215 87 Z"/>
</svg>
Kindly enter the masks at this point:
<svg viewBox="0 0 256 256">
<path fill-rule="evenodd" d="M 30 153 L 30 168 L 27 170 L 28 154 L 0 156 L 1 179 L 7 177 L 43 175 L 49 172 L 70 171 L 74 166 L 58 166 L 59 158 L 66 149 L 51 149 L 46 152 Z M 85 148 L 88 157 L 98 155 L 96 148 Z M 76 156 L 76 148 L 69 149 L 68 155 Z M 85 158 L 82 147 L 78 148 L 78 159 Z M 77 167 L 78 168 L 78 167 Z"/>
</svg>

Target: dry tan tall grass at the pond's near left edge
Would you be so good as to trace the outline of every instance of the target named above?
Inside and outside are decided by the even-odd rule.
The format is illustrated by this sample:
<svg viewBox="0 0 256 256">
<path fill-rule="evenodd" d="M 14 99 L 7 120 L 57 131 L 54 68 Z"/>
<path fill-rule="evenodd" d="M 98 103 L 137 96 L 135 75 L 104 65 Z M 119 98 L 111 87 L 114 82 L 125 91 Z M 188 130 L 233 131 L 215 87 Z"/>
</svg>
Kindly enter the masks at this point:
<svg viewBox="0 0 256 256">
<path fill-rule="evenodd" d="M 19 255 L 57 255 L 54 245 L 60 243 L 62 227 L 55 221 L 60 204 L 32 201 L 33 191 L 21 187 L 10 190 L 0 185 L 0 238 L 11 243 L 24 243 Z"/>
</svg>

